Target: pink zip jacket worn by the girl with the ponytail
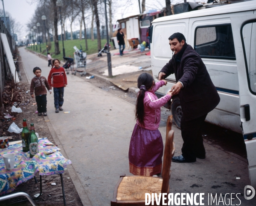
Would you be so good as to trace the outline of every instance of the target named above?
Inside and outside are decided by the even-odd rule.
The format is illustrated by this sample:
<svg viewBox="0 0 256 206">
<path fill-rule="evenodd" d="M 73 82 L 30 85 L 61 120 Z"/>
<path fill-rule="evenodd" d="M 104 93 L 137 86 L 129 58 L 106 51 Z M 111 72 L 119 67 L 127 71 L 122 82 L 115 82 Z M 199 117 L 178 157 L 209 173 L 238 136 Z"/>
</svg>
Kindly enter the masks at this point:
<svg viewBox="0 0 256 206">
<path fill-rule="evenodd" d="M 165 83 L 164 81 L 160 80 L 154 86 L 151 91 L 145 92 L 144 97 L 144 124 L 145 129 L 148 130 L 156 130 L 160 125 L 161 120 L 161 106 L 164 106 L 170 99 L 171 96 L 166 94 L 165 96 L 161 97 L 160 99 L 157 98 L 155 95 L 155 91 L 157 91 L 161 86 Z M 138 124 L 138 122 L 137 122 Z M 141 125 L 140 125 L 141 126 Z M 141 126 L 142 127 L 142 126 Z"/>
</svg>

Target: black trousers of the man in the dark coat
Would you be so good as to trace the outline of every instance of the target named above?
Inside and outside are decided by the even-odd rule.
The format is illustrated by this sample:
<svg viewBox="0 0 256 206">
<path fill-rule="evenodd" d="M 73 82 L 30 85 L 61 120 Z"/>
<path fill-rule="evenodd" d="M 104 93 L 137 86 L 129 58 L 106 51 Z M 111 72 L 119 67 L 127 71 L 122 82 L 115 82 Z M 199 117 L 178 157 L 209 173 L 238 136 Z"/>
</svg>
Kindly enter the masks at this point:
<svg viewBox="0 0 256 206">
<path fill-rule="evenodd" d="M 185 121 L 184 115 L 180 119 L 181 136 L 184 141 L 181 152 L 188 161 L 195 161 L 196 157 L 205 157 L 202 128 L 207 114 L 194 120 Z"/>
</svg>

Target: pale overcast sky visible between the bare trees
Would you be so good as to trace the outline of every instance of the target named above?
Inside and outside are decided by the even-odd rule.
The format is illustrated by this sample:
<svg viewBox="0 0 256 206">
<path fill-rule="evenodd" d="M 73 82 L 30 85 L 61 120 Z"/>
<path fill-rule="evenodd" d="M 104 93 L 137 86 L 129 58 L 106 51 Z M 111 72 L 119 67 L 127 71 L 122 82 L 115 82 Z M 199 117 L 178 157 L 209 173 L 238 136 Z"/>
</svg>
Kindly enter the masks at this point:
<svg viewBox="0 0 256 206">
<path fill-rule="evenodd" d="M 199 1 L 199 0 L 188 0 L 188 1 Z M 207 0 L 202 0 L 202 2 Z M 35 2 L 35 3 L 33 3 Z M 116 20 L 122 19 L 125 17 L 129 17 L 135 14 L 139 14 L 139 3 L 138 0 L 112 0 L 113 2 L 113 24 L 116 23 Z M 114 3 L 118 2 L 118 3 Z M 131 2 L 130 4 L 127 4 L 127 2 Z M 140 0 L 140 3 L 142 0 Z M 172 3 L 176 2 L 184 2 L 183 0 L 171 0 Z M 17 22 L 19 22 L 23 28 L 20 31 L 20 34 L 18 34 L 18 38 L 22 38 L 23 36 L 26 36 L 28 34 L 26 23 L 29 22 L 30 18 L 32 18 L 35 8 L 36 8 L 36 0 L 4 0 L 4 8 L 5 11 L 8 11 L 13 18 Z M 157 9 L 161 10 L 163 7 L 165 7 L 165 0 L 145 0 L 145 6 L 146 11 L 151 9 Z M 0 1 L 0 9 L 3 9 L 3 3 L 2 0 Z M 102 11 L 103 12 L 103 11 Z M 105 22 L 104 22 L 105 23 Z M 67 31 L 70 31 L 70 26 L 67 22 Z M 89 25 L 87 25 L 90 27 Z M 79 29 L 79 22 L 74 23 L 73 31 L 76 31 Z M 58 29 L 59 33 L 61 32 L 61 29 Z"/>
</svg>

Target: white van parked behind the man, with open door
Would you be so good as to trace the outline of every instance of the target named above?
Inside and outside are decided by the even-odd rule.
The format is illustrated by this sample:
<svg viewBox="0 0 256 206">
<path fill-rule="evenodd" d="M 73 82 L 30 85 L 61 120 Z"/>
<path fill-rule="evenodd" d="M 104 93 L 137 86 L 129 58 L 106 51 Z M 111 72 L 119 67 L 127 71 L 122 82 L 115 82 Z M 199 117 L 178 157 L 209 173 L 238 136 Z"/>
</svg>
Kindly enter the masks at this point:
<svg viewBox="0 0 256 206">
<path fill-rule="evenodd" d="M 168 38 L 175 32 L 200 54 L 221 98 L 206 121 L 244 135 L 251 185 L 256 187 L 256 0 L 157 18 L 151 29 L 151 68 L 154 79 L 172 58 Z M 166 78 L 166 94 L 176 83 Z M 179 98 L 172 114 L 180 127 Z"/>
</svg>

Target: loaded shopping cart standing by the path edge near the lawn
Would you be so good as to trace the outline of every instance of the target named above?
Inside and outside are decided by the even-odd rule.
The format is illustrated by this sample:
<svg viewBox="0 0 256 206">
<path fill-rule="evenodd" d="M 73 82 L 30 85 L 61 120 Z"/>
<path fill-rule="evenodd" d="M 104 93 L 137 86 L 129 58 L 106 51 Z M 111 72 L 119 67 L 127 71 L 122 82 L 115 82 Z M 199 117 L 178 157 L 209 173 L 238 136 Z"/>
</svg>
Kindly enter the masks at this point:
<svg viewBox="0 0 256 206">
<path fill-rule="evenodd" d="M 85 76 L 87 54 L 86 52 L 82 51 L 82 48 L 80 50 L 76 46 L 74 46 L 73 48 L 75 49 L 74 58 L 76 63 L 74 75 L 76 75 L 76 72 L 78 72 L 81 76 Z"/>
</svg>

